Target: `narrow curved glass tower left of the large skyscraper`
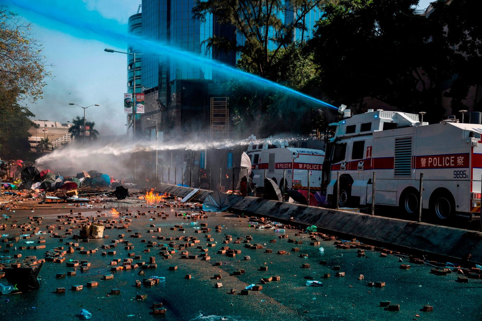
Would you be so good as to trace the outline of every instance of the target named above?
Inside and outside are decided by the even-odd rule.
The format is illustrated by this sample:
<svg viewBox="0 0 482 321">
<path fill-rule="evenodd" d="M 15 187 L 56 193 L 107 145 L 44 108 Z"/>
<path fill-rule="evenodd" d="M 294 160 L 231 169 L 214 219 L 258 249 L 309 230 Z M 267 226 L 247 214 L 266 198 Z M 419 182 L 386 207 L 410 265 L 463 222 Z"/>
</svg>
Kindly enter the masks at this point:
<svg viewBox="0 0 482 321">
<path fill-rule="evenodd" d="M 133 35 L 140 36 L 142 33 L 142 13 L 136 13 L 129 17 L 127 23 L 127 31 Z M 140 53 L 140 50 L 129 47 L 127 52 Z M 134 72 L 135 72 L 135 92 L 142 92 L 142 56 L 135 57 L 127 55 L 127 92 L 134 92 Z"/>
</svg>

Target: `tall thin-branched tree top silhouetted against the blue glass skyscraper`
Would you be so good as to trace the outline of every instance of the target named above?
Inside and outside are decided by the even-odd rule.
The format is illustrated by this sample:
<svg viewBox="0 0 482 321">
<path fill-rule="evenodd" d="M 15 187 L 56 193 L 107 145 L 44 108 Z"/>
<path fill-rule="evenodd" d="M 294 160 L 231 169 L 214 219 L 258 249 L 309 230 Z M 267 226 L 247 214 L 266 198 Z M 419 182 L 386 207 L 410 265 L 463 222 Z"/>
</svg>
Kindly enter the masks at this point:
<svg viewBox="0 0 482 321">
<path fill-rule="evenodd" d="M 306 15 L 327 0 L 197 0 L 193 18 L 206 20 L 213 13 L 216 22 L 234 26 L 243 43 L 236 39 L 213 36 L 207 39 L 209 48 L 220 51 L 235 50 L 251 61 L 253 71 L 262 77 L 271 73 L 273 62 L 281 49 L 293 41 L 295 29 L 305 31 Z M 293 21 L 285 24 L 280 18 L 292 13 Z M 274 50 L 268 50 L 274 43 Z"/>
</svg>

